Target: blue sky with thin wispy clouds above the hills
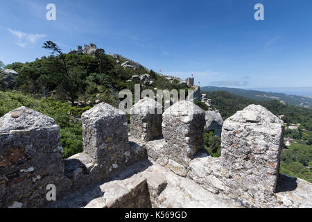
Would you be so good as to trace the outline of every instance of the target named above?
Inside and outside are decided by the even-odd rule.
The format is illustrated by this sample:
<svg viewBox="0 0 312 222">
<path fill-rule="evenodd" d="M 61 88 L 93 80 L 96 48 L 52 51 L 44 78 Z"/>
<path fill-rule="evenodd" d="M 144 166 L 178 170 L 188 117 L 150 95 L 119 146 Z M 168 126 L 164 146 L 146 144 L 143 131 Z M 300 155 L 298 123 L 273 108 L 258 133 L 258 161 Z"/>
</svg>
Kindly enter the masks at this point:
<svg viewBox="0 0 312 222">
<path fill-rule="evenodd" d="M 54 3 L 56 21 L 46 20 Z M 264 21 L 254 20 L 263 3 Z M 52 40 L 96 42 L 149 69 L 239 88 L 312 86 L 312 1 L 0 0 L 0 60 L 31 62 Z"/>
</svg>

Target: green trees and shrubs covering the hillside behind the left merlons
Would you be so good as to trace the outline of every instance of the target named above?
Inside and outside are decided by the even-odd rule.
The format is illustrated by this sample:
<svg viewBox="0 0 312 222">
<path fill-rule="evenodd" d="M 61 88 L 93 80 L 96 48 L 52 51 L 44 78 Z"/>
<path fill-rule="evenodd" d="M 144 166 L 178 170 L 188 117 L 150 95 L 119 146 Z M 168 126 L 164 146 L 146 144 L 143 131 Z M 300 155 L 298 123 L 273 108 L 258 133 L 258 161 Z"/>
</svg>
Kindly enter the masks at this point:
<svg viewBox="0 0 312 222">
<path fill-rule="evenodd" d="M 83 151 L 81 114 L 96 105 L 97 100 L 118 108 L 122 89 L 129 89 L 135 96 L 135 84 L 140 80 L 128 81 L 132 76 L 150 75 L 153 83 L 141 84 L 141 90 L 156 93 L 155 88 L 188 89 L 141 65 L 136 69 L 121 67 L 125 60 L 117 62 L 103 49 L 89 56 L 62 53 L 53 42 L 46 42 L 44 48 L 52 51 L 51 56 L 7 66 L 0 63 L 0 70 L 14 69 L 19 73 L 10 89 L 6 89 L 0 73 L 0 117 L 22 105 L 52 117 L 60 126 L 65 158 Z"/>
</svg>

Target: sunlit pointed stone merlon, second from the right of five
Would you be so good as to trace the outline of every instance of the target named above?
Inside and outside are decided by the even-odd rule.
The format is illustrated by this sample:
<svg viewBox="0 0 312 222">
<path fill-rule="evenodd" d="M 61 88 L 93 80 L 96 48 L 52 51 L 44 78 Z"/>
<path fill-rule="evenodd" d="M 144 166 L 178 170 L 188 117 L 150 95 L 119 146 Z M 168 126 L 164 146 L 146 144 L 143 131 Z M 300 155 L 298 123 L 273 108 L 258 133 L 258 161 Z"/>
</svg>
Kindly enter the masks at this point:
<svg viewBox="0 0 312 222">
<path fill-rule="evenodd" d="M 194 103 L 179 101 L 162 115 L 164 155 L 187 166 L 190 157 L 204 148 L 205 112 Z"/>
</svg>

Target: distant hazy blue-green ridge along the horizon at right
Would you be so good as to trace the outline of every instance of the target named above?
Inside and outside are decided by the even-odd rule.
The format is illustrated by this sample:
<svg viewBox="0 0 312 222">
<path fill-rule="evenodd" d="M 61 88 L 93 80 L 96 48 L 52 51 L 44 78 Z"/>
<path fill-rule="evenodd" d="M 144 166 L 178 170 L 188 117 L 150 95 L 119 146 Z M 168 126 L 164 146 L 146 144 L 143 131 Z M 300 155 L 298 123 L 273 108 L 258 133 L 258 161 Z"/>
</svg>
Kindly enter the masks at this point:
<svg viewBox="0 0 312 222">
<path fill-rule="evenodd" d="M 309 98 L 309 96 L 296 96 L 278 92 L 262 92 L 250 89 L 236 89 L 214 86 L 201 87 L 200 90 L 202 92 L 226 91 L 237 96 L 244 96 L 246 98 L 257 101 L 279 100 L 281 103 L 286 103 L 288 105 L 295 105 L 301 108 L 312 108 L 312 98 Z"/>
</svg>

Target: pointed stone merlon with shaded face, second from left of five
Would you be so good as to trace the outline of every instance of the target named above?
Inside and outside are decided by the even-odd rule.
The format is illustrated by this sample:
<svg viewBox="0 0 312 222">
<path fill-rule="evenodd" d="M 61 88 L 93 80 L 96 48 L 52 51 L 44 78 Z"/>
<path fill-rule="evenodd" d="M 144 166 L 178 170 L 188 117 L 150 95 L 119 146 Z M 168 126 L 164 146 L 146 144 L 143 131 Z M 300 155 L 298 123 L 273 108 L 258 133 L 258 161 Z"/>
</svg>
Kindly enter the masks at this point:
<svg viewBox="0 0 312 222">
<path fill-rule="evenodd" d="M 83 113 L 83 145 L 98 164 L 118 169 L 129 152 L 128 122 L 125 112 L 100 103 Z"/>
</svg>

